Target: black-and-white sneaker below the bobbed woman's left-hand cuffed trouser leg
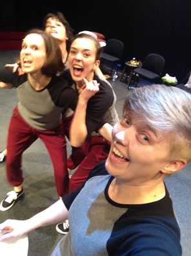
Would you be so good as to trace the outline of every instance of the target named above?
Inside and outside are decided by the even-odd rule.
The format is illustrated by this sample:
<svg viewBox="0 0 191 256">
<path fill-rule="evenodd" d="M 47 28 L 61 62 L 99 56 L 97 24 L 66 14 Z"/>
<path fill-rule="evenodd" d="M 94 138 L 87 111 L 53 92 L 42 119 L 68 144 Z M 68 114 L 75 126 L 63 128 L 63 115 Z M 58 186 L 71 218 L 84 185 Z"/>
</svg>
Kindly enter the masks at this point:
<svg viewBox="0 0 191 256">
<path fill-rule="evenodd" d="M 6 198 L 0 204 L 0 211 L 7 211 L 8 209 L 10 209 L 10 207 L 12 207 L 15 204 L 19 196 L 21 196 L 22 194 L 23 189 L 21 190 L 21 192 L 8 192 Z"/>
</svg>

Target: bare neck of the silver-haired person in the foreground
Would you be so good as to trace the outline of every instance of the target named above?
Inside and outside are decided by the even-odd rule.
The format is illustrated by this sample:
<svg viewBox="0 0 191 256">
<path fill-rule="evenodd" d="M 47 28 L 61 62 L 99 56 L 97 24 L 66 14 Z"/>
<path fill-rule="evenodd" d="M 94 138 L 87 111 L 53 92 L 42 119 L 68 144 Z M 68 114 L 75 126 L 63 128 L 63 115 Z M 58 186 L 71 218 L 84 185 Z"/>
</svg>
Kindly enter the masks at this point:
<svg viewBox="0 0 191 256">
<path fill-rule="evenodd" d="M 110 198 L 119 204 L 148 204 L 165 196 L 163 180 L 148 185 L 128 185 L 114 178 L 108 189 Z"/>
</svg>

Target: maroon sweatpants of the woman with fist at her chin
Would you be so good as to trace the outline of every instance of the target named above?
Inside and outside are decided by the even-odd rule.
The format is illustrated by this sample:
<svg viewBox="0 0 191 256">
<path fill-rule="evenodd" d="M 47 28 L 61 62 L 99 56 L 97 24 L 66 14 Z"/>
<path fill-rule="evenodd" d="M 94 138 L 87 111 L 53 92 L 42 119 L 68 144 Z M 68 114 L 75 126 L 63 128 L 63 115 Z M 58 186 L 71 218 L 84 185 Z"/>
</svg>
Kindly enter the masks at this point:
<svg viewBox="0 0 191 256">
<path fill-rule="evenodd" d="M 77 165 L 79 167 L 70 179 L 69 192 L 83 184 L 95 165 L 108 157 L 109 151 L 110 142 L 101 136 L 92 136 L 90 141 L 86 141 L 80 148 L 72 148 L 72 155 L 67 160 L 67 166 L 69 169 L 74 169 L 73 167 Z"/>
</svg>

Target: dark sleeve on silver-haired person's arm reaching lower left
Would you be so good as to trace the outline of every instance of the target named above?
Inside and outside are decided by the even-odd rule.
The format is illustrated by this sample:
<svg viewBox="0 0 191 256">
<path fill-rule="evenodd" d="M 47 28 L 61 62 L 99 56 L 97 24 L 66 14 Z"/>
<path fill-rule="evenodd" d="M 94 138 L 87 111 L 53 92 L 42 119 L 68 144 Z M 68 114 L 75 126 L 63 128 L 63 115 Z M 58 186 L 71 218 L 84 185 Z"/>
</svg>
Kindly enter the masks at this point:
<svg viewBox="0 0 191 256">
<path fill-rule="evenodd" d="M 84 181 L 83 185 L 81 187 L 78 187 L 75 189 L 75 191 L 72 191 L 70 194 L 67 194 L 66 196 L 63 196 L 62 200 L 66 206 L 66 208 L 69 210 L 70 206 L 72 205 L 72 202 L 74 202 L 74 199 L 76 196 L 79 194 L 81 189 L 85 186 L 86 181 L 90 180 L 90 178 L 95 177 L 95 176 L 103 176 L 103 175 L 108 175 L 108 172 L 105 169 L 105 161 L 102 161 L 98 165 L 94 167 L 94 169 L 91 170 L 88 178 Z"/>
</svg>

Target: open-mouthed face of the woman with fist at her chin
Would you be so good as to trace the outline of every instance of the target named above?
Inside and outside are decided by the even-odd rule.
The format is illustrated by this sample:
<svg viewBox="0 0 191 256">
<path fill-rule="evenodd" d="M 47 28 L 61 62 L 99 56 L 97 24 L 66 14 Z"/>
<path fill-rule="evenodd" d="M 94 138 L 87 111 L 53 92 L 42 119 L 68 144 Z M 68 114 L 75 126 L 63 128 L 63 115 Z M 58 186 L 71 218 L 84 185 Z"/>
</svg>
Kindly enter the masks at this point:
<svg viewBox="0 0 191 256">
<path fill-rule="evenodd" d="M 95 43 L 89 38 L 77 38 L 73 41 L 68 64 L 75 82 L 80 82 L 83 78 L 88 81 L 93 79 L 94 69 L 99 66 L 99 60 L 95 60 L 96 53 Z"/>
</svg>

